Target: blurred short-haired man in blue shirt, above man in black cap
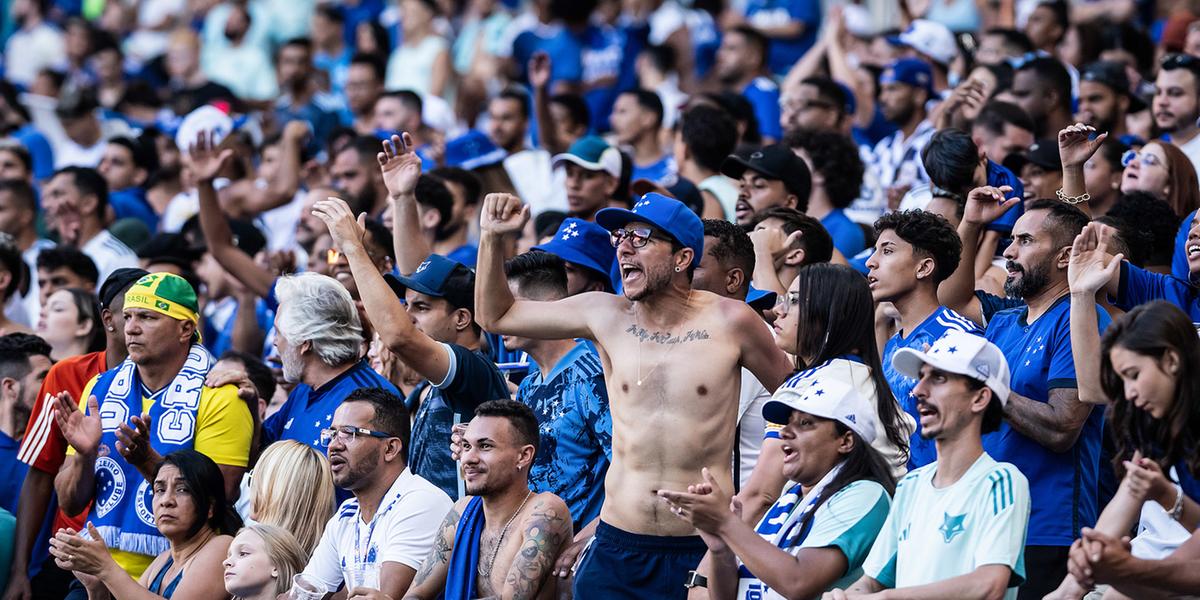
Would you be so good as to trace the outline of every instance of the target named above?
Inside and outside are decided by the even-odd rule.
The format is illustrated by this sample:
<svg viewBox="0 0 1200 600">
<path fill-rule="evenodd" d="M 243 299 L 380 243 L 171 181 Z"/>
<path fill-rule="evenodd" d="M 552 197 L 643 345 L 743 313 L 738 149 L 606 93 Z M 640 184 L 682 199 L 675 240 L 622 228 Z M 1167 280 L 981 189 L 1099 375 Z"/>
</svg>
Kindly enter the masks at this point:
<svg viewBox="0 0 1200 600">
<path fill-rule="evenodd" d="M 767 71 L 770 41 L 755 28 L 738 25 L 725 32 L 716 50 L 714 72 L 721 85 L 745 96 L 754 107 L 764 143 L 782 139 L 779 119 L 779 86 Z"/>
</svg>

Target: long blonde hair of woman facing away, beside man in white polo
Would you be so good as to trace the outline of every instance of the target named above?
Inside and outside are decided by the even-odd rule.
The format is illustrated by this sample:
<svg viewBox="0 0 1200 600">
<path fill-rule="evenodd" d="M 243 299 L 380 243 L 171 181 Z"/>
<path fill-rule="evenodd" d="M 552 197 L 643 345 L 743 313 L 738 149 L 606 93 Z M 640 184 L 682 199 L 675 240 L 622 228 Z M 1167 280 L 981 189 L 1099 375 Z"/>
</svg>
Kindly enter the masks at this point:
<svg viewBox="0 0 1200 600">
<path fill-rule="evenodd" d="M 312 554 L 335 508 L 334 475 L 325 455 L 288 439 L 259 456 L 250 480 L 250 518 L 256 523 L 282 527 Z"/>
</svg>

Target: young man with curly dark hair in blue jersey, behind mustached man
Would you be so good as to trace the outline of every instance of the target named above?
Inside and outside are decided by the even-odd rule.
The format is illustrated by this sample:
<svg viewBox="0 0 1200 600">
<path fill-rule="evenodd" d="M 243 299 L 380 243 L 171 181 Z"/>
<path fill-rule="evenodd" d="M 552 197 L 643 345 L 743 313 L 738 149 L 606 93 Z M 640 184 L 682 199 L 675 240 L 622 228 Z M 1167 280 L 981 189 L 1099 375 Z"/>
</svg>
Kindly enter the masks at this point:
<svg viewBox="0 0 1200 600">
<path fill-rule="evenodd" d="M 912 390 L 917 379 L 905 376 L 892 364 L 901 348 L 923 350 L 949 330 L 983 335 L 970 319 L 937 301 L 937 286 L 959 265 L 962 242 L 946 218 L 924 210 L 906 210 L 883 215 L 875 222 L 875 253 L 866 260 L 866 282 L 876 302 L 892 302 L 900 313 L 895 334 L 883 347 L 883 376 L 900 406 L 920 422 L 917 397 Z M 912 432 L 908 468 L 924 467 L 937 460 L 931 439 Z"/>
</svg>

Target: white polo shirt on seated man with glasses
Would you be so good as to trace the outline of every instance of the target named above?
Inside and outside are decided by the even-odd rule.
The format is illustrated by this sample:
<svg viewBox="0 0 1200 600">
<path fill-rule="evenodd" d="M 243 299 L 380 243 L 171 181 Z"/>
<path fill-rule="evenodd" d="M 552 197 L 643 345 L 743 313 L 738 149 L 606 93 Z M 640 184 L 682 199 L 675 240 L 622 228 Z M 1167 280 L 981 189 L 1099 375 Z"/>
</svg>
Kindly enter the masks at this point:
<svg viewBox="0 0 1200 600">
<path fill-rule="evenodd" d="M 346 568 L 354 563 L 420 569 L 452 506 L 445 492 L 406 468 L 370 523 L 359 516 L 358 498 L 338 506 L 304 572 L 320 580 L 326 592 L 336 592 Z"/>
</svg>

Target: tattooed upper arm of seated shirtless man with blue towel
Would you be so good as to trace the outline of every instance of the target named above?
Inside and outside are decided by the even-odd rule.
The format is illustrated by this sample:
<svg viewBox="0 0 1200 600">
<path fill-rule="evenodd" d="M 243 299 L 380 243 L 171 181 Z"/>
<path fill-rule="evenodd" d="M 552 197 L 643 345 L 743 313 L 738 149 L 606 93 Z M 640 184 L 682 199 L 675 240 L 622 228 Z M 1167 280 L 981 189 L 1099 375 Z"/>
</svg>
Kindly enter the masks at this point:
<svg viewBox="0 0 1200 600">
<path fill-rule="evenodd" d="M 558 554 L 571 542 L 570 516 L 564 506 L 539 502 L 524 524 L 524 539 L 504 580 L 505 596 L 536 598 Z"/>
</svg>

